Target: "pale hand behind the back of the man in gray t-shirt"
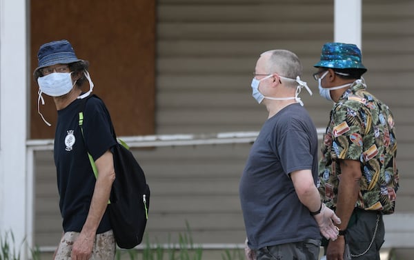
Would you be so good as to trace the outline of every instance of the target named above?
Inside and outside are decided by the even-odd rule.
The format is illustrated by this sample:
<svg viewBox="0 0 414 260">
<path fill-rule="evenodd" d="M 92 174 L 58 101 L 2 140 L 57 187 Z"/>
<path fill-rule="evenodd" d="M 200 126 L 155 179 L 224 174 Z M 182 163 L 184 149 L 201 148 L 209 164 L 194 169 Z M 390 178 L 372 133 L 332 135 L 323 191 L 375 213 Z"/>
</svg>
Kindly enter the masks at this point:
<svg viewBox="0 0 414 260">
<path fill-rule="evenodd" d="M 333 210 L 331 210 L 330 208 L 327 208 L 325 204 L 322 203 L 321 212 L 313 217 L 315 217 L 321 234 L 326 239 L 331 239 L 332 241 L 335 241 L 335 239 L 337 239 L 338 237 L 338 229 L 334 225 L 334 223 L 338 225 L 341 223 L 341 219 L 337 217 L 335 212 L 333 212 Z"/>
</svg>

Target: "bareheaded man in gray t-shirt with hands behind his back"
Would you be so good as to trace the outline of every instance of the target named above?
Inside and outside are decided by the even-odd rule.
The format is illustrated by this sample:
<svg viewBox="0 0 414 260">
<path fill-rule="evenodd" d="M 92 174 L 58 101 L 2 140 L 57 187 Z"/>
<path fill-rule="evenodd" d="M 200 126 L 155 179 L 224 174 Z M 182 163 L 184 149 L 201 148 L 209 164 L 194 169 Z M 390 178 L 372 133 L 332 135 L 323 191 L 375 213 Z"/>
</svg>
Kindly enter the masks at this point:
<svg viewBox="0 0 414 260">
<path fill-rule="evenodd" d="M 316 128 L 298 97 L 302 64 L 288 50 L 260 55 L 251 87 L 268 119 L 253 143 L 239 184 L 248 259 L 317 259 L 320 234 L 340 223 L 321 203 Z"/>
</svg>

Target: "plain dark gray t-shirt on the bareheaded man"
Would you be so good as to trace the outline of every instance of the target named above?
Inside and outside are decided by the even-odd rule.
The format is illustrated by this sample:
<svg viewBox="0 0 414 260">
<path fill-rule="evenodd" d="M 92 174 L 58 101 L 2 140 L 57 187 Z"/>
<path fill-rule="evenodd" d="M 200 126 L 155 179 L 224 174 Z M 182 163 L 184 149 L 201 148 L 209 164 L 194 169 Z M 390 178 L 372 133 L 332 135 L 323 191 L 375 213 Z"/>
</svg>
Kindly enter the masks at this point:
<svg viewBox="0 0 414 260">
<path fill-rule="evenodd" d="M 298 103 L 264 123 L 244 168 L 239 196 L 250 248 L 321 239 L 290 179 L 295 170 L 312 170 L 317 183 L 316 128 Z"/>
</svg>

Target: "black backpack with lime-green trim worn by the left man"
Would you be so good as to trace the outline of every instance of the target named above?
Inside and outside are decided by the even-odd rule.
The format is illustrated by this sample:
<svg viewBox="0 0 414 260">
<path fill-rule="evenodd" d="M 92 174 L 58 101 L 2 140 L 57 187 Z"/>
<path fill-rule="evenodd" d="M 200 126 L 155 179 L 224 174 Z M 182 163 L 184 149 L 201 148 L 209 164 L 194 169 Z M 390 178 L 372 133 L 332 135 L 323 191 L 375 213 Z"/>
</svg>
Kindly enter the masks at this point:
<svg viewBox="0 0 414 260">
<path fill-rule="evenodd" d="M 79 105 L 79 127 L 83 137 L 83 110 L 86 101 L 95 94 L 82 99 Z M 97 97 L 99 99 L 99 97 Z M 106 108 L 105 108 L 106 109 Z M 106 111 L 110 120 L 110 114 Z M 86 119 L 87 120 L 87 119 Z M 134 248 L 144 236 L 150 206 L 150 188 L 146 183 L 144 171 L 121 139 L 116 138 L 115 130 L 110 121 L 112 133 L 117 145 L 111 148 L 114 158 L 115 181 L 112 184 L 110 202 L 108 202 L 110 224 L 119 248 Z M 97 177 L 97 168 L 89 154 L 90 164 Z"/>
</svg>

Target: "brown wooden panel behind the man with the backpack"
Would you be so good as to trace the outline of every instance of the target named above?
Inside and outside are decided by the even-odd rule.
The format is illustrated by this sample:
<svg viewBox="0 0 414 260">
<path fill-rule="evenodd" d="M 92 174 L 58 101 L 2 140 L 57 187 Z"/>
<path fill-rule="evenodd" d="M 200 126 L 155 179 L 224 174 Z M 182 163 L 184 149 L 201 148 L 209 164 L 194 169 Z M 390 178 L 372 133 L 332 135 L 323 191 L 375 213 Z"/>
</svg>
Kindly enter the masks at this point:
<svg viewBox="0 0 414 260">
<path fill-rule="evenodd" d="M 67 39 L 108 106 L 118 135 L 153 134 L 155 128 L 155 1 L 31 1 L 31 71 L 48 41 Z M 57 112 L 50 97 L 37 114 L 37 83 L 30 89 L 30 138 L 52 138 Z M 88 88 L 86 84 L 85 88 Z M 46 95 L 45 95 L 46 96 Z"/>
</svg>

